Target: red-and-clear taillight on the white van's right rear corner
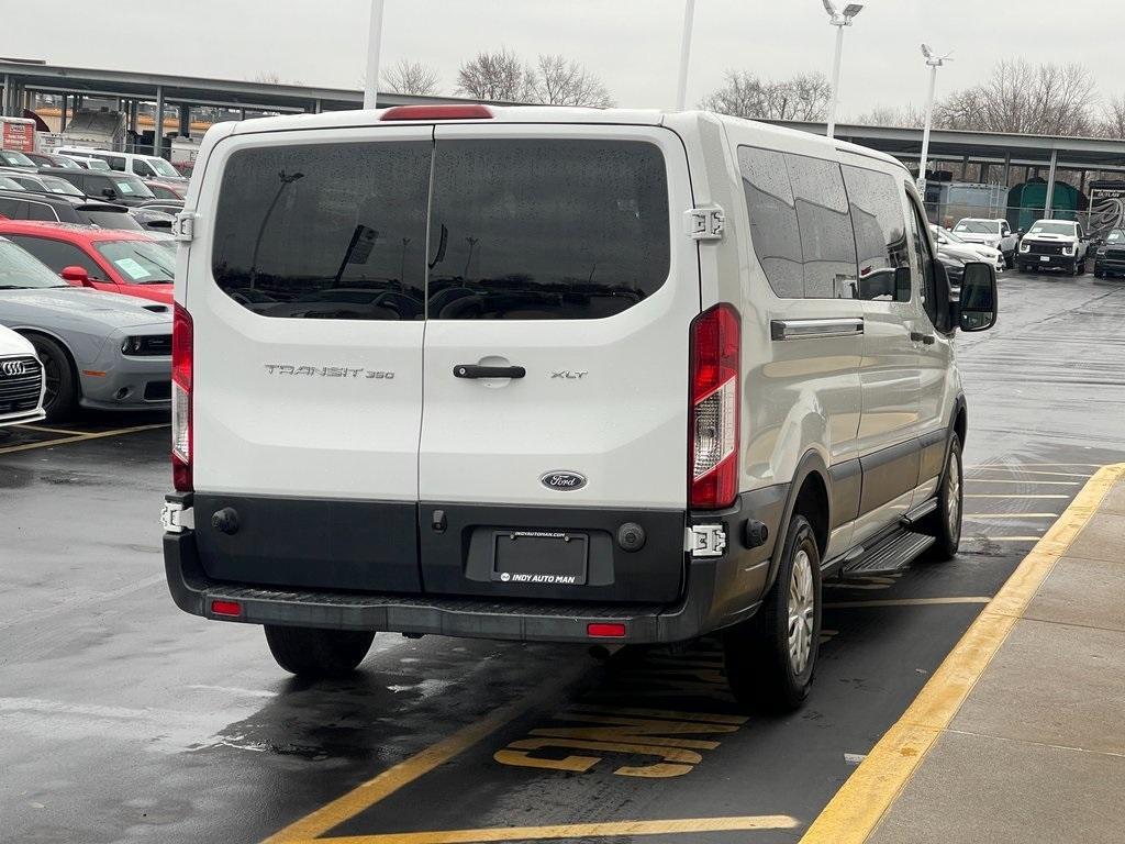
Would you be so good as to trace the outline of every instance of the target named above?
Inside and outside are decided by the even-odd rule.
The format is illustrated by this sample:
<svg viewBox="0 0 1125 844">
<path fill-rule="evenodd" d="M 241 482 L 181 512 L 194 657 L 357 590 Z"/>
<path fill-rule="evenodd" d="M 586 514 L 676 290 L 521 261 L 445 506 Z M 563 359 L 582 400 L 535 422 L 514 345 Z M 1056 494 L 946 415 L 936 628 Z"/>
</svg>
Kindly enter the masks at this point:
<svg viewBox="0 0 1125 844">
<path fill-rule="evenodd" d="M 688 479 L 693 509 L 738 494 L 739 318 L 721 303 L 692 322 Z"/>
</svg>

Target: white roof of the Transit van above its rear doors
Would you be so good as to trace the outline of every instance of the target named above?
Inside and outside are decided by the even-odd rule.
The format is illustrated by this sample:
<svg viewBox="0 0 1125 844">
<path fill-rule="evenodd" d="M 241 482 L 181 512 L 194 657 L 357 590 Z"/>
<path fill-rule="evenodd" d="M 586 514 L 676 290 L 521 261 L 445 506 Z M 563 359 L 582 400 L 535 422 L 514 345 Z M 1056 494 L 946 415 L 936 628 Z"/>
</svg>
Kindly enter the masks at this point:
<svg viewBox="0 0 1125 844">
<path fill-rule="evenodd" d="M 456 111 L 458 108 L 480 108 L 477 104 L 464 104 L 460 105 L 446 105 L 443 108 L 449 108 Z M 439 107 L 439 108 L 442 108 Z M 412 108 L 431 108 L 429 106 L 414 107 L 414 106 L 397 106 L 395 109 L 400 109 L 402 113 L 408 113 Z M 718 119 L 723 124 L 729 126 L 741 126 L 741 127 L 753 127 L 755 132 L 763 133 L 763 136 L 771 136 L 778 144 L 783 144 L 786 140 L 795 141 L 809 149 L 809 145 L 813 147 L 820 147 L 825 152 L 831 149 L 853 152 L 860 155 L 865 155 L 867 158 L 874 158 L 883 161 L 888 164 L 896 167 L 902 167 L 902 163 L 886 153 L 878 152 L 866 146 L 860 146 L 857 144 L 847 143 L 845 141 L 835 141 L 826 138 L 821 135 L 813 135 L 808 132 L 802 132 L 800 129 L 785 128 L 783 126 L 773 126 L 766 123 L 758 123 L 756 120 L 748 120 L 741 117 L 730 117 L 728 115 L 719 115 L 711 111 L 666 111 L 662 109 L 641 109 L 641 108 L 582 108 L 573 106 L 484 106 L 490 114 L 492 117 L 488 118 L 466 118 L 466 119 L 440 119 L 434 120 L 432 118 L 420 117 L 417 124 L 423 125 L 428 123 L 580 123 L 580 124 L 608 124 L 608 125 L 632 125 L 632 126 L 674 126 L 674 125 L 686 125 L 693 119 L 710 118 Z M 284 132 L 287 129 L 312 129 L 312 128 L 344 128 L 354 126 L 408 126 L 413 120 L 408 119 L 396 119 L 396 120 L 385 120 L 384 116 L 387 111 L 395 109 L 356 109 L 350 111 L 325 111 L 318 115 L 303 114 L 303 115 L 282 115 L 280 117 L 255 117 L 249 120 L 241 120 L 233 126 L 231 124 L 225 124 L 230 126 L 227 131 L 231 134 L 244 134 L 253 132 Z M 222 125 L 222 124 L 220 124 Z M 904 168 L 903 168 L 904 169 Z"/>
</svg>

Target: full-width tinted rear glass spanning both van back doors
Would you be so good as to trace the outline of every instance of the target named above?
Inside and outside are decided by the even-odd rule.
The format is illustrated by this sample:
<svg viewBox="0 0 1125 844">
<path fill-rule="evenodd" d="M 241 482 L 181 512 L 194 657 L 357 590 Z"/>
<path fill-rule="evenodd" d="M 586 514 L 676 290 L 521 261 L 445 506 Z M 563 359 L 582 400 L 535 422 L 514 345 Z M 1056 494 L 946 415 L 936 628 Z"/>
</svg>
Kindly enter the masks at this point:
<svg viewBox="0 0 1125 844">
<path fill-rule="evenodd" d="M 434 149 L 235 153 L 215 222 L 216 282 L 268 316 L 411 320 L 429 309 L 442 320 L 555 320 L 611 316 L 667 278 L 668 188 L 655 145 L 458 140 Z"/>
</svg>

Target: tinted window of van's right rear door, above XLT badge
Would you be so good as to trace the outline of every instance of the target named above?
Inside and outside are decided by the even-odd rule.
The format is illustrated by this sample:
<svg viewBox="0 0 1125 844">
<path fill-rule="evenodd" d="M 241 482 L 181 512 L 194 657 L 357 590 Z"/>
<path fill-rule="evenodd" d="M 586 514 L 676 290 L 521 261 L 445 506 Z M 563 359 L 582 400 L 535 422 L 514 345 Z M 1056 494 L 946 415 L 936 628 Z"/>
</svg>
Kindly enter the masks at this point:
<svg viewBox="0 0 1125 844">
<path fill-rule="evenodd" d="M 612 316 L 668 276 L 664 156 L 645 142 L 441 141 L 430 243 L 430 318 Z"/>
</svg>

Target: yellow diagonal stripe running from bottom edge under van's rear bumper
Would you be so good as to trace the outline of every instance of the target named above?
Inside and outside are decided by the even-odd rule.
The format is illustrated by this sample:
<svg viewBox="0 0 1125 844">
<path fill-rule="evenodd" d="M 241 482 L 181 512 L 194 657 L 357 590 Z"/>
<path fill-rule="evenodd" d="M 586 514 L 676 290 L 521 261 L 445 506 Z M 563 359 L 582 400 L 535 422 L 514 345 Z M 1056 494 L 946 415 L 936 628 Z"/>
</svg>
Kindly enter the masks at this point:
<svg viewBox="0 0 1125 844">
<path fill-rule="evenodd" d="M 324 835 L 324 833 L 333 827 L 340 826 L 345 820 L 369 809 L 404 785 L 408 785 L 435 767 L 446 764 L 477 744 L 477 742 L 486 738 L 536 707 L 541 706 L 546 701 L 557 699 L 567 686 L 575 683 L 578 677 L 590 670 L 590 665 L 578 664 L 570 671 L 559 675 L 554 682 L 539 686 L 538 691 L 533 694 L 494 709 L 479 720 L 462 727 L 436 744 L 415 753 L 410 758 L 357 785 L 343 797 L 325 803 L 320 809 L 296 820 L 285 829 L 274 833 L 262 842 L 262 844 L 292 844 L 294 842 L 306 842 Z"/>
</svg>

